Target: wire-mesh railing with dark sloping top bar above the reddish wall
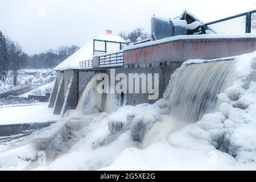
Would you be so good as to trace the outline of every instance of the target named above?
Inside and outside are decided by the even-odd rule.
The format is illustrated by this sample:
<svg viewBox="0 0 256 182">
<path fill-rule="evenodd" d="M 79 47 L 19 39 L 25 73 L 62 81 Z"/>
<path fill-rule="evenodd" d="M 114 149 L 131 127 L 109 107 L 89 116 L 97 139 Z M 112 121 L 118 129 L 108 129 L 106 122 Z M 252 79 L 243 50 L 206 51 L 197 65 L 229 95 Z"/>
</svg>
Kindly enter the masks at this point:
<svg viewBox="0 0 256 182">
<path fill-rule="evenodd" d="M 204 24 L 216 34 L 243 34 L 256 32 L 256 10 Z"/>
</svg>

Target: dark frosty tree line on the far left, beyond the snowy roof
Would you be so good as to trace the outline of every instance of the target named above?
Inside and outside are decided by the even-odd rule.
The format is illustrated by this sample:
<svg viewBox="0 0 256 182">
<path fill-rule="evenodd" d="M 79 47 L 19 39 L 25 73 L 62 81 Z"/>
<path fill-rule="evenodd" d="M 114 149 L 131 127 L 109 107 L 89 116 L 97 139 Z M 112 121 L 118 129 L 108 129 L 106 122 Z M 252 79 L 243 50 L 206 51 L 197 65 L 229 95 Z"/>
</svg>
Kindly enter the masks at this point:
<svg viewBox="0 0 256 182">
<path fill-rule="evenodd" d="M 14 42 L 0 31 L 0 84 L 6 80 L 7 74 L 11 73 L 16 85 L 19 69 L 54 68 L 79 49 L 78 46 L 60 46 L 55 51 L 51 49 L 28 56 L 18 42 Z"/>
</svg>

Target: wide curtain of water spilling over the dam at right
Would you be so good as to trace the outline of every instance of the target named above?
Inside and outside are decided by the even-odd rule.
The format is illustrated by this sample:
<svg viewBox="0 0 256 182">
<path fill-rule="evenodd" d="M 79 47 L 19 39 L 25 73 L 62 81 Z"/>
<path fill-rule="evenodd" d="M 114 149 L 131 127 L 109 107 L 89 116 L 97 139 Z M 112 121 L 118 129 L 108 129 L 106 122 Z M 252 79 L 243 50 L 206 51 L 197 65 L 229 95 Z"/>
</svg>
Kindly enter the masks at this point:
<svg viewBox="0 0 256 182">
<path fill-rule="evenodd" d="M 232 61 L 189 64 L 170 81 L 170 115 L 178 122 L 195 123 L 212 110 L 217 95 L 232 83 Z"/>
</svg>

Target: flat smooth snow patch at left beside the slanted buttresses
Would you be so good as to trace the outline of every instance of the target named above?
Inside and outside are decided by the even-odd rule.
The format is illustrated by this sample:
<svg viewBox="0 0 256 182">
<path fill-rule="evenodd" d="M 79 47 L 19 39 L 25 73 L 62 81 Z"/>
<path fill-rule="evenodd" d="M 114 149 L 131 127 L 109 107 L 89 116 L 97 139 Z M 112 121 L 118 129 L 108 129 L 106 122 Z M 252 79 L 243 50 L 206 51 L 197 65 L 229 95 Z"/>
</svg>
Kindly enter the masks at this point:
<svg viewBox="0 0 256 182">
<path fill-rule="evenodd" d="M 45 103 L 0 106 L 0 125 L 57 121 L 60 115 L 52 112 Z"/>
</svg>

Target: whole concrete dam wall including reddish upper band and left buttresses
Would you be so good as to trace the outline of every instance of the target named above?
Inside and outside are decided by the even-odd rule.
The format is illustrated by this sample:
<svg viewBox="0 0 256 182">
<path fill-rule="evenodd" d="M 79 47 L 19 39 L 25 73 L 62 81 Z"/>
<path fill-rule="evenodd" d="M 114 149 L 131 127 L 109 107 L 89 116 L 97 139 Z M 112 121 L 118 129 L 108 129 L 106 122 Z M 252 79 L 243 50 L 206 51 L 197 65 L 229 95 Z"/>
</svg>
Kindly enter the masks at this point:
<svg viewBox="0 0 256 182">
<path fill-rule="evenodd" d="M 123 73 L 126 77 L 135 73 L 138 75 L 151 73 L 152 76 L 158 74 L 159 97 L 157 99 L 149 100 L 147 93 L 125 94 L 127 105 L 152 104 L 163 97 L 170 76 L 184 61 L 218 59 L 256 51 L 256 38 L 253 36 L 251 38 L 249 35 L 242 38 L 220 38 L 219 36 L 214 38 L 214 36 L 216 35 L 204 35 L 198 38 L 197 36 L 177 36 L 128 47 L 123 50 L 123 66 L 118 67 L 113 65 L 112 67 L 100 67 L 100 56 L 94 56 L 93 68 L 69 69 L 57 73 L 49 106 L 54 107 L 54 114 L 64 114 L 69 109 L 76 109 L 82 91 L 93 76 L 97 73 L 105 73 L 111 77 L 112 69 L 114 69 L 114 76 L 118 73 Z M 117 82 L 115 81 L 115 84 Z M 139 90 L 142 89 L 143 85 L 140 85 Z"/>
</svg>

